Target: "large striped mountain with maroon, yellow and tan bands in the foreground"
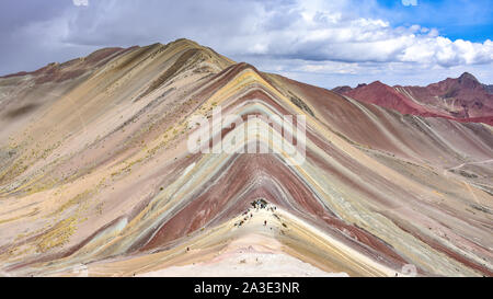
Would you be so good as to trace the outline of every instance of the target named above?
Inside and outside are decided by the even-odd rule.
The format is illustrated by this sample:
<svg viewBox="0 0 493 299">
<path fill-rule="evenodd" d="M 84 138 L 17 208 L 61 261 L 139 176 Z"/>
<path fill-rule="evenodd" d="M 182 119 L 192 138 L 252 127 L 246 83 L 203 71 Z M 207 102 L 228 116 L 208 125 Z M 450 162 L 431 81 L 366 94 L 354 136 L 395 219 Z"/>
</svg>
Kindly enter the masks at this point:
<svg viewBox="0 0 493 299">
<path fill-rule="evenodd" d="M 68 79 L 65 64 L 0 79 L 2 274 L 197 275 L 266 254 L 326 274 L 492 275 L 491 127 L 404 116 L 187 39 L 107 51 Z M 192 116 L 218 106 L 305 115 L 305 162 L 188 152 Z"/>
</svg>

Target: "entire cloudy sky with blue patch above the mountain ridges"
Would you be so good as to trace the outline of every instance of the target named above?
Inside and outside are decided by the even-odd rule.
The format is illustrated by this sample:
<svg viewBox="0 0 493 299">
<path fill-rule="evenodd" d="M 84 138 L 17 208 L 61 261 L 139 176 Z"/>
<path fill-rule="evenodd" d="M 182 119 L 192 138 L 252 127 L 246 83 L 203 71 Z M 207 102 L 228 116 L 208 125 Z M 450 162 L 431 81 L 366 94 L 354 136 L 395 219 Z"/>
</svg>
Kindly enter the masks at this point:
<svg viewBox="0 0 493 299">
<path fill-rule="evenodd" d="M 180 37 L 325 88 L 493 83 L 491 0 L 2 0 L 0 74 Z"/>
</svg>

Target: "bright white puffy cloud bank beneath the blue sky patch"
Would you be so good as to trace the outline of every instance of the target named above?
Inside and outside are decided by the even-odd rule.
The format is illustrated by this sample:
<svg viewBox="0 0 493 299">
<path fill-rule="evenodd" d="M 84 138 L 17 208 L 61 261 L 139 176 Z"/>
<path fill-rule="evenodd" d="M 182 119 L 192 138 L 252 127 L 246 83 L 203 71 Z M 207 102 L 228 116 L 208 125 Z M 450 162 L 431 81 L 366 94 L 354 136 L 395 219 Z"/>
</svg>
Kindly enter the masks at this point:
<svg viewBox="0 0 493 299">
<path fill-rule="evenodd" d="M 328 5 L 322 1 L 297 1 L 278 10 L 290 14 L 290 22 L 271 28 L 277 14 L 257 7 L 255 26 L 218 43 L 234 55 L 265 55 L 308 61 L 412 62 L 442 67 L 491 64 L 492 42 L 450 41 L 436 28 L 417 24 L 392 27 L 380 19 L 355 16 L 354 7 Z M 296 13 L 294 13 L 296 12 Z"/>
</svg>

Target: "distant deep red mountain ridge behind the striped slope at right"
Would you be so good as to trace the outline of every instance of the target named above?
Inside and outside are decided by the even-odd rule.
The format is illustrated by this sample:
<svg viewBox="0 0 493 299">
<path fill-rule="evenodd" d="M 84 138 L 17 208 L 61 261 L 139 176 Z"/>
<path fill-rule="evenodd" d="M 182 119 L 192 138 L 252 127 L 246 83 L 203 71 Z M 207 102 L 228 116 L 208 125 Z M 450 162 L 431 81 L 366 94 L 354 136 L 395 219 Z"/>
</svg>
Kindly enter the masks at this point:
<svg viewBox="0 0 493 299">
<path fill-rule="evenodd" d="M 375 81 L 355 89 L 339 87 L 333 91 L 402 114 L 493 125 L 492 87 L 480 83 L 468 72 L 427 87 L 389 87 Z"/>
</svg>

